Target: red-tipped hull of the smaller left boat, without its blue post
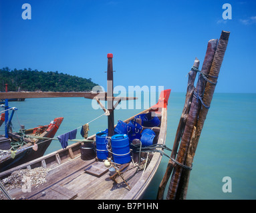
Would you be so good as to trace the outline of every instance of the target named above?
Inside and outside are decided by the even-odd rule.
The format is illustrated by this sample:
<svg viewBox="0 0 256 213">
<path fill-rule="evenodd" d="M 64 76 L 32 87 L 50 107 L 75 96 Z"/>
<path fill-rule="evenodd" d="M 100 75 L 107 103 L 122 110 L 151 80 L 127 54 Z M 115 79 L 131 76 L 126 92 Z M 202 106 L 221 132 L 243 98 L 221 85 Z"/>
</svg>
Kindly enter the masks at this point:
<svg viewBox="0 0 256 213">
<path fill-rule="evenodd" d="M 1 116 L 4 121 L 4 116 Z M 48 125 L 35 128 L 22 129 L 19 132 L 7 132 L 7 135 L 0 135 L 0 171 L 19 166 L 35 158 L 43 156 L 45 150 L 51 144 L 63 118 L 55 118 Z M 43 138 L 25 138 L 24 136 L 40 136 Z"/>
</svg>

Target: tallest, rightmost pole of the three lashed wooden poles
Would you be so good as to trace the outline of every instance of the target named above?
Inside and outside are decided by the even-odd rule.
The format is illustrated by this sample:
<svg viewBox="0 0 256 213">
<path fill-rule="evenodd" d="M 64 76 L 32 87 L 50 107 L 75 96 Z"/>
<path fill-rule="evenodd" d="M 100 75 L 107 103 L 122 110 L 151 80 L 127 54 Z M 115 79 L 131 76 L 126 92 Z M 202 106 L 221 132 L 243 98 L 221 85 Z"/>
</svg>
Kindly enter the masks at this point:
<svg viewBox="0 0 256 213">
<path fill-rule="evenodd" d="M 230 34 L 229 32 L 222 31 L 221 38 L 219 39 L 217 50 L 215 52 L 215 57 L 211 65 L 211 71 L 208 77 L 208 79 L 213 83 L 207 82 L 205 86 L 205 92 L 203 95 L 203 103 L 205 103 L 206 106 L 210 106 L 211 101 L 213 99 L 213 93 L 215 91 L 217 79 L 219 77 L 219 71 L 221 69 L 221 64 L 223 62 L 223 57 L 225 55 L 225 51 L 227 49 L 227 43 L 229 41 L 229 34 Z M 199 138 L 203 129 L 205 119 L 207 117 L 208 110 L 209 108 L 203 105 L 199 112 L 199 119 L 197 121 L 197 126 L 195 126 L 193 130 L 193 136 L 190 140 L 190 144 L 188 147 L 188 153 L 186 156 L 186 166 L 192 166 L 195 152 L 197 150 L 197 144 L 199 142 Z M 184 185 L 182 186 L 182 189 L 181 189 L 181 194 L 180 194 L 181 199 L 186 199 L 189 177 L 190 177 L 190 170 L 184 170 Z"/>
</svg>

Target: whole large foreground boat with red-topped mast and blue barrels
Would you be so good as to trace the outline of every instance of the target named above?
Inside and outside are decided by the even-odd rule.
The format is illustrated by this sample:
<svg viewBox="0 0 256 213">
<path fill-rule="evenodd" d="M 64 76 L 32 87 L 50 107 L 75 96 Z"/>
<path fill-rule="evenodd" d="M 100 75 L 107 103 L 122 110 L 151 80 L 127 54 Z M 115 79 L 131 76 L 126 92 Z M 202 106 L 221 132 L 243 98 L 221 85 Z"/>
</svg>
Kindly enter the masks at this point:
<svg viewBox="0 0 256 213">
<path fill-rule="evenodd" d="M 9 198 L 31 200 L 140 199 L 154 177 L 166 148 L 167 105 L 170 89 L 161 91 L 158 103 L 114 125 L 114 109 L 134 97 L 113 96 L 113 55 L 108 54 L 108 93 L 9 93 L 7 97 L 86 97 L 95 99 L 108 116 L 107 131 L 78 140 L 0 173 L 3 183 L 24 180 L 9 188 Z M 100 103 L 108 102 L 108 109 Z M 114 105 L 114 101 L 116 104 Z M 154 120 L 154 122 L 152 122 Z M 118 126 L 119 125 L 119 126 Z M 123 132 L 122 132 L 123 131 Z M 100 143 L 100 138 L 103 138 Z M 114 142 L 116 142 L 114 144 Z M 123 144 L 124 142 L 124 144 Z M 104 148 L 102 148 L 102 144 Z M 122 150 L 122 151 L 121 151 Z M 102 155 L 104 155 L 102 157 Z M 121 160 L 120 160 L 121 159 Z M 29 174 L 25 174 L 30 172 Z M 33 174 L 37 174 L 36 178 Z M 40 176 L 41 174 L 41 176 Z M 32 175 L 32 176 L 31 176 Z M 33 183 L 33 180 L 39 182 Z M 3 187 L 2 191 L 5 192 Z"/>
</svg>

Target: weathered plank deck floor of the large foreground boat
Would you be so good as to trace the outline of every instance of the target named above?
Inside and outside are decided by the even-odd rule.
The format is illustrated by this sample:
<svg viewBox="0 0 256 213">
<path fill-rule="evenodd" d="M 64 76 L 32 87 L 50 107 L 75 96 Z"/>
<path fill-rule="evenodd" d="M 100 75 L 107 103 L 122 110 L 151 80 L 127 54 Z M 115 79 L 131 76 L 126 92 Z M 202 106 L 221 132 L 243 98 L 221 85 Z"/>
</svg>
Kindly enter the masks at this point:
<svg viewBox="0 0 256 213">
<path fill-rule="evenodd" d="M 130 162 L 127 172 L 124 172 L 124 178 L 132 176 L 136 172 L 136 168 L 131 168 L 132 165 Z M 92 169 L 96 175 L 86 172 L 86 170 Z M 131 188 L 138 181 L 142 172 L 141 170 L 128 181 Z M 47 173 L 46 182 L 37 187 L 32 186 L 31 192 L 24 193 L 21 188 L 14 188 L 10 192 L 15 199 L 118 200 L 124 198 L 130 189 L 120 176 L 116 180 L 118 183 L 110 179 L 110 172 L 104 166 L 104 162 L 75 158 L 50 170 Z"/>
</svg>

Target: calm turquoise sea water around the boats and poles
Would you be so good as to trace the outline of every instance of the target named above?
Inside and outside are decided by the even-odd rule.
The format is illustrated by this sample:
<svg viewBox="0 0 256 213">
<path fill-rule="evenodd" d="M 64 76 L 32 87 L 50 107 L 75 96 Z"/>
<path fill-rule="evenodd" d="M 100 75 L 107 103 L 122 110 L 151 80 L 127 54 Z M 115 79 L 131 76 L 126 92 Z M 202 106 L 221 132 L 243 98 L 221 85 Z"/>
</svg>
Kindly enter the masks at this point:
<svg viewBox="0 0 256 213">
<path fill-rule="evenodd" d="M 166 145 L 169 148 L 172 148 L 184 98 L 184 93 L 171 92 L 168 101 Z M 64 120 L 56 136 L 82 126 L 103 114 L 103 110 L 95 110 L 92 108 L 92 101 L 84 98 L 26 99 L 24 102 L 13 102 L 9 105 L 18 108 L 13 117 L 14 130 L 19 129 L 18 122 L 24 124 L 25 128 L 31 128 L 48 124 L 53 118 L 63 116 Z M 215 93 L 197 146 L 187 199 L 256 199 L 255 108 L 256 94 Z M 124 120 L 140 111 L 140 109 L 116 110 L 115 120 Z M 90 122 L 89 134 L 105 128 L 107 128 L 107 118 L 101 116 L 98 120 Z M 0 130 L 3 133 L 3 126 Z M 82 138 L 79 132 L 80 129 L 77 138 Z M 45 154 L 59 148 L 61 148 L 59 142 L 53 140 Z M 166 154 L 170 155 L 170 152 Z M 167 162 L 168 158 L 163 156 L 144 199 L 156 198 Z M 225 176 L 229 176 L 232 180 L 232 192 L 225 193 L 222 190 Z"/>
</svg>

